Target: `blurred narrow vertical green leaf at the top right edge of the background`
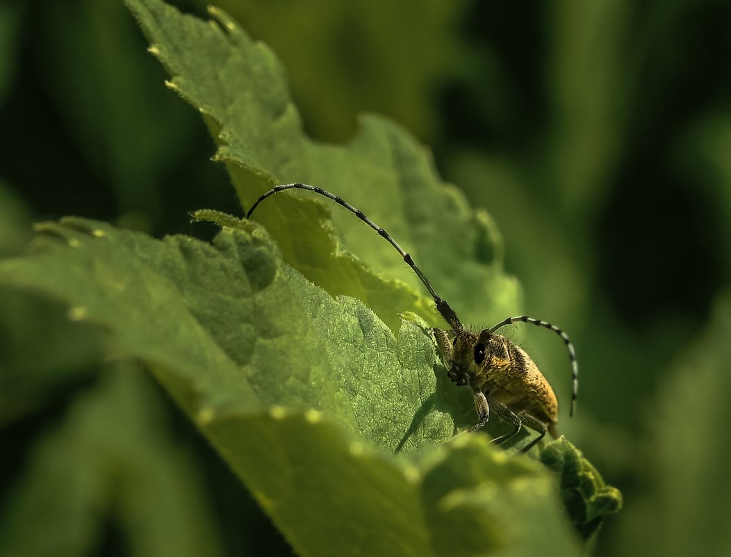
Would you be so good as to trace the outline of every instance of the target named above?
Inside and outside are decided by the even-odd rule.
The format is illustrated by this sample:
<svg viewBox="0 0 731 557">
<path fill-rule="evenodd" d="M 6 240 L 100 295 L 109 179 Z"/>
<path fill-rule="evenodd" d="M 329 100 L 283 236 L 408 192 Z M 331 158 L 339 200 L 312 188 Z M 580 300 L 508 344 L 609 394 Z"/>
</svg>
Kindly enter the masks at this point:
<svg viewBox="0 0 731 557">
<path fill-rule="evenodd" d="M 616 165 L 621 138 L 630 124 L 629 91 L 619 84 L 634 69 L 627 64 L 631 48 L 627 20 L 633 4 L 626 0 L 551 4 L 552 71 L 546 75 L 551 108 L 559 121 L 544 145 L 555 173 L 549 181 L 557 207 L 574 221 L 592 223 L 611 184 L 607 172 Z"/>
</svg>

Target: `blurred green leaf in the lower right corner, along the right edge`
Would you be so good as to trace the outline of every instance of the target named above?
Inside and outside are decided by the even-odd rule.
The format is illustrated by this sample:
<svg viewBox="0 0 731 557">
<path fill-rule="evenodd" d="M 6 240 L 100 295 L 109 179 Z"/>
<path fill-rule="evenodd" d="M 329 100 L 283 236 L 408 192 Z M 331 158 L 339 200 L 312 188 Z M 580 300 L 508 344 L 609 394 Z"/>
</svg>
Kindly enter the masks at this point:
<svg viewBox="0 0 731 557">
<path fill-rule="evenodd" d="M 731 374 L 731 293 L 716 302 L 705 333 L 667 370 L 650 405 L 651 428 L 639 466 L 643 490 L 618 523 L 616 555 L 694 555 L 731 552 L 728 421 Z M 720 426 L 719 426 L 720 425 Z M 721 429 L 719 430 L 719 427 Z"/>
</svg>

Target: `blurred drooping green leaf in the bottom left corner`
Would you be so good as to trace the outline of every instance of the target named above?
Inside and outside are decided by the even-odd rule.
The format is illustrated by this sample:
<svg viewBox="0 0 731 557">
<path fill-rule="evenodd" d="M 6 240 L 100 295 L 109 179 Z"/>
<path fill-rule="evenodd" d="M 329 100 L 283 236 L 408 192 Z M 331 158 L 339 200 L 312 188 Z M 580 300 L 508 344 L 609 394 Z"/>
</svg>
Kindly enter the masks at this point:
<svg viewBox="0 0 731 557">
<path fill-rule="evenodd" d="M 198 471 L 162 425 L 148 378 L 135 365 L 100 377 L 31 449 L 0 521 L 0 555 L 86 556 L 110 526 L 130 555 L 221 555 Z"/>
</svg>

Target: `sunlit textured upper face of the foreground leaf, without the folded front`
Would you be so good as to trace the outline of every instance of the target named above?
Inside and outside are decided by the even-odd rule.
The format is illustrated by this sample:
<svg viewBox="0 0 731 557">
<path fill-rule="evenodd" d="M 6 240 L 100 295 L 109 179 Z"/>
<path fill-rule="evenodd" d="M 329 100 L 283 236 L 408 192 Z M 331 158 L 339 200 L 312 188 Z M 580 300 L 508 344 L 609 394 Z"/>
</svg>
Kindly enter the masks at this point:
<svg viewBox="0 0 731 557">
<path fill-rule="evenodd" d="M 0 280 L 53 294 L 72 319 L 113 331 L 113 353 L 160 370 L 194 415 L 289 405 L 330 411 L 391 450 L 449 438 L 442 407 L 462 393 L 447 388 L 431 337 L 412 322 L 395 337 L 360 302 L 333 300 L 282 263 L 259 225 L 241 227 L 211 246 L 82 219 L 44 223 L 34 256 L 4 261 Z M 404 440 L 422 405 L 434 408 Z"/>
</svg>

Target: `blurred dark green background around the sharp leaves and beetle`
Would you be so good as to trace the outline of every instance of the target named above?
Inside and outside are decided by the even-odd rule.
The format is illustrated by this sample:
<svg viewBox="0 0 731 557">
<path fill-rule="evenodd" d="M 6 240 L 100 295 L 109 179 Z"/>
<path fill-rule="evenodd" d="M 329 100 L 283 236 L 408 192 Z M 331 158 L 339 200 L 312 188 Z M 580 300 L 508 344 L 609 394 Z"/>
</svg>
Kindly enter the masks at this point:
<svg viewBox="0 0 731 557">
<path fill-rule="evenodd" d="M 217 5 L 278 54 L 311 136 L 346 141 L 357 113 L 390 116 L 496 220 L 524 310 L 577 345 L 562 430 L 624 493 L 596 555 L 731 554 L 731 4 Z M 0 255 L 66 214 L 200 236 L 189 211 L 241 213 L 146 48 L 121 0 L 0 4 Z M 520 334 L 563 370 L 561 343 Z M 0 552 L 23 524 L 39 533 L 29 554 L 289 555 L 162 390 L 102 362 L 102 342 L 0 291 Z M 567 373 L 547 375 L 566 400 Z M 40 501 L 58 505 L 38 515 Z"/>
</svg>

